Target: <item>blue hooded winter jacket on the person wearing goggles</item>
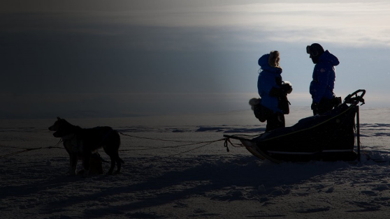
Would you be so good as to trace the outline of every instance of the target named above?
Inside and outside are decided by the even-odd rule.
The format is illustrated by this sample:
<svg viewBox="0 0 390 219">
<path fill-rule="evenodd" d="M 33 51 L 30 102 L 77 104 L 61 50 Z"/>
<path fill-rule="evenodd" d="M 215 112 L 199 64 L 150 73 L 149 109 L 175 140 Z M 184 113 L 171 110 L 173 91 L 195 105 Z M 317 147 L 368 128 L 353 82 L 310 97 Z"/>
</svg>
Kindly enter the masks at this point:
<svg viewBox="0 0 390 219">
<path fill-rule="evenodd" d="M 319 56 L 313 70 L 313 80 L 310 83 L 310 94 L 314 103 L 319 103 L 322 98 L 332 99 L 335 88 L 335 67 L 340 62 L 337 57 L 326 50 Z"/>
</svg>

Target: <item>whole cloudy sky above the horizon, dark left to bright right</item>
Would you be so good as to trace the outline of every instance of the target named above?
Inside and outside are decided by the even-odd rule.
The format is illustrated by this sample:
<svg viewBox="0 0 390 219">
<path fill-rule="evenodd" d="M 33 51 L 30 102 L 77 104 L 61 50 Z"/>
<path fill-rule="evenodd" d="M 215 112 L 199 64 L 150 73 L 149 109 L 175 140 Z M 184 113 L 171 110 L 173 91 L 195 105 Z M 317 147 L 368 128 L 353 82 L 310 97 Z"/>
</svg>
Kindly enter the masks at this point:
<svg viewBox="0 0 390 219">
<path fill-rule="evenodd" d="M 249 109 L 270 50 L 310 106 L 312 43 L 340 60 L 337 96 L 390 107 L 389 20 L 386 1 L 1 1 L 0 118 Z"/>
</svg>

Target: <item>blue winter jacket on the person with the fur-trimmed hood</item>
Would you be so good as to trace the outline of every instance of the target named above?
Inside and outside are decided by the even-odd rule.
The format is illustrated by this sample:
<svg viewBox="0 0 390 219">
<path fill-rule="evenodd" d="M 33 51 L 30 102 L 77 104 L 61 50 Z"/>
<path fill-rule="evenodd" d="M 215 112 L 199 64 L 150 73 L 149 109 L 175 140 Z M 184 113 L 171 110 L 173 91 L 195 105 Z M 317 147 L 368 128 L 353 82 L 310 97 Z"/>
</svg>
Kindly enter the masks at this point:
<svg viewBox="0 0 390 219">
<path fill-rule="evenodd" d="M 278 107 L 277 97 L 270 96 L 270 90 L 275 88 L 280 88 L 277 85 L 276 81 L 282 82 L 282 69 L 275 68 L 268 64 L 268 57 L 270 54 L 265 54 L 259 59 L 259 66 L 261 67 L 261 73 L 257 80 L 257 89 L 259 91 L 259 96 L 261 97 L 261 105 L 267 107 L 273 112 L 282 112 Z"/>
</svg>

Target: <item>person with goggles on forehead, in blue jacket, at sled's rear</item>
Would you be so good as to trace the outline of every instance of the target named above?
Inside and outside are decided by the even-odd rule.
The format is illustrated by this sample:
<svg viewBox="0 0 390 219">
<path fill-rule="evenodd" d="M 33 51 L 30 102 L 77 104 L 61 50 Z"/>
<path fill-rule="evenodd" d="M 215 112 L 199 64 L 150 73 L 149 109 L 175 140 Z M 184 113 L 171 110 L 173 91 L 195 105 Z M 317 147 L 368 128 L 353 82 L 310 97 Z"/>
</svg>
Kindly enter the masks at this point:
<svg viewBox="0 0 390 219">
<path fill-rule="evenodd" d="M 324 114 L 334 107 L 335 66 L 338 66 L 340 62 L 331 52 L 324 51 L 318 43 L 308 45 L 306 52 L 310 54 L 310 59 L 315 63 L 312 82 L 310 82 L 311 108 L 314 115 Z"/>
</svg>

